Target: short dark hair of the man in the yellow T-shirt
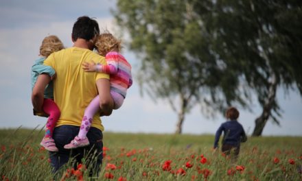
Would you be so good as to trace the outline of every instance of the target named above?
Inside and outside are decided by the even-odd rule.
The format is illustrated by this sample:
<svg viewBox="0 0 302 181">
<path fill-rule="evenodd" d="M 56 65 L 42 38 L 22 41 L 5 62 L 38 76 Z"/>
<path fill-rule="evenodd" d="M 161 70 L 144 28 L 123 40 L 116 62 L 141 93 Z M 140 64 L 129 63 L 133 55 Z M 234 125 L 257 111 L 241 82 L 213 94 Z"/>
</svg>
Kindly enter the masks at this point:
<svg viewBox="0 0 302 181">
<path fill-rule="evenodd" d="M 95 36 L 100 34 L 100 28 L 95 19 L 89 16 L 80 16 L 73 24 L 71 38 L 76 41 L 78 38 L 84 40 L 93 40 Z"/>
</svg>

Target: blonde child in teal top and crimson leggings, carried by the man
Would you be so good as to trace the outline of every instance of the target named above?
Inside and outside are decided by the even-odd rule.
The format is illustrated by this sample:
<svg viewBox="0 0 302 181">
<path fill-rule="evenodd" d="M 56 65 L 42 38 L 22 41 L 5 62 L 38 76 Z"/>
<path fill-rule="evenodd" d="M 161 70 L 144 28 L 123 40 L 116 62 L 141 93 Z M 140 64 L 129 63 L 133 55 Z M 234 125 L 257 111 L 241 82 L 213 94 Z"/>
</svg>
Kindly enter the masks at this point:
<svg viewBox="0 0 302 181">
<path fill-rule="evenodd" d="M 40 74 L 45 73 L 49 75 L 51 77 L 51 80 L 55 76 L 56 72 L 54 71 L 54 69 L 49 66 L 43 65 L 43 62 L 45 58 L 47 58 L 51 53 L 54 53 L 55 51 L 60 51 L 61 49 L 64 49 L 64 46 L 57 36 L 51 35 L 43 39 L 42 45 L 40 45 L 40 58 L 38 58 L 38 60 L 36 60 L 32 66 L 32 90 L 34 90 L 34 86 Z M 45 136 L 40 142 L 40 145 L 42 145 L 43 147 L 45 147 L 45 149 L 51 152 L 58 152 L 58 148 L 54 143 L 52 134 L 56 122 L 60 117 L 60 109 L 54 102 L 54 87 L 52 81 L 49 82 L 44 91 L 43 111 L 46 114 L 49 114 L 49 117 L 46 123 Z M 34 115 L 45 116 L 44 112 L 36 112 L 34 110 Z"/>
</svg>

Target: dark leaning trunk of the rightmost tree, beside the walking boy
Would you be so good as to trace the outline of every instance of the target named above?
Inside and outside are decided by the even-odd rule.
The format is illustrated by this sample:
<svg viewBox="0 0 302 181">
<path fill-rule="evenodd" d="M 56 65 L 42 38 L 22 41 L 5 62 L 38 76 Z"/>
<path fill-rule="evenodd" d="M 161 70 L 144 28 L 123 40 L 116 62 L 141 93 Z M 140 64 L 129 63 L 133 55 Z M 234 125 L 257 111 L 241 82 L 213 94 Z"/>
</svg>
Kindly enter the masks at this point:
<svg viewBox="0 0 302 181">
<path fill-rule="evenodd" d="M 270 113 L 272 110 L 272 106 L 275 102 L 276 97 L 276 90 L 277 90 L 277 80 L 275 73 L 272 73 L 272 81 L 270 82 L 270 88 L 268 90 L 268 99 L 264 104 L 262 114 L 257 117 L 255 120 L 255 129 L 253 131 L 252 136 L 261 136 L 264 130 L 264 126 L 270 117 Z"/>
</svg>

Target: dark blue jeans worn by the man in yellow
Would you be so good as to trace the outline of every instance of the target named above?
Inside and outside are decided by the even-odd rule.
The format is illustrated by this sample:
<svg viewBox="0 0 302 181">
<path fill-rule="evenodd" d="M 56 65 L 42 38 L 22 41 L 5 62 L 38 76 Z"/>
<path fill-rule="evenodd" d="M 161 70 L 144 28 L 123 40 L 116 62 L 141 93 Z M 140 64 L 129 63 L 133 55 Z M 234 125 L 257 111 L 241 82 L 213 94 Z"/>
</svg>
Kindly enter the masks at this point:
<svg viewBox="0 0 302 181">
<path fill-rule="evenodd" d="M 90 128 L 86 135 L 89 139 L 89 146 L 78 147 L 76 149 L 64 148 L 64 145 L 70 143 L 78 135 L 79 130 L 80 127 L 75 125 L 60 125 L 54 129 L 53 138 L 56 147 L 59 149 L 59 152 L 49 152 L 54 173 L 69 162 L 70 158 L 73 159 L 74 169 L 82 162 L 82 158 L 85 158 L 86 168 L 91 168 L 89 172 L 90 176 L 97 176 L 100 172 L 103 159 L 103 134 L 101 130 L 93 127 Z"/>
</svg>

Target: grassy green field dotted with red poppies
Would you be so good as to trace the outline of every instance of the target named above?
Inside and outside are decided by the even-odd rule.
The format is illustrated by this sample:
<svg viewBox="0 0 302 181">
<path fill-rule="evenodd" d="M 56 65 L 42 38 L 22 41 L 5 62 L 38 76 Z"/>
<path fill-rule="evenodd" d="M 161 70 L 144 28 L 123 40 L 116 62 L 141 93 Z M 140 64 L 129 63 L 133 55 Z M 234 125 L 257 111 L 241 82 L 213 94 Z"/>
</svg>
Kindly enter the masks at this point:
<svg viewBox="0 0 302 181">
<path fill-rule="evenodd" d="M 1 180 L 53 180 L 43 130 L 0 130 Z M 213 150 L 213 135 L 104 132 L 98 178 L 84 164 L 56 180 L 302 180 L 302 137 L 248 138 L 232 160 Z M 84 160 L 83 160 L 84 162 Z"/>
</svg>

